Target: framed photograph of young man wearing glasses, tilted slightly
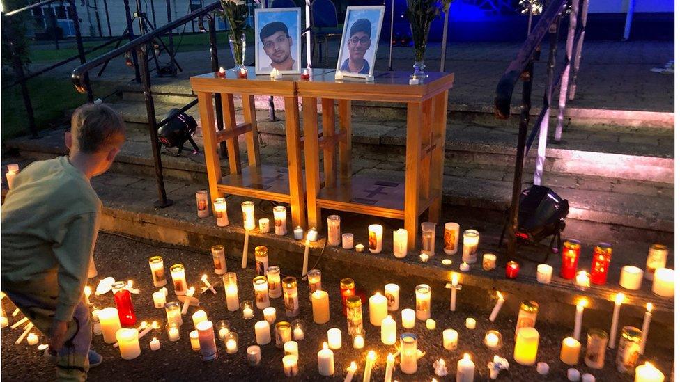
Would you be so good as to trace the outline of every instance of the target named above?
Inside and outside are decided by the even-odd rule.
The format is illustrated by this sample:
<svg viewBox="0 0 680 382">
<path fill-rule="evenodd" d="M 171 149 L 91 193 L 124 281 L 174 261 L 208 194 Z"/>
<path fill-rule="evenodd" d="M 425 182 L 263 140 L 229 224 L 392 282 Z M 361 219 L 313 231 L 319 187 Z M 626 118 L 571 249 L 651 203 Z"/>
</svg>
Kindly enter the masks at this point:
<svg viewBox="0 0 680 382">
<path fill-rule="evenodd" d="M 373 75 L 385 6 L 350 6 L 340 41 L 336 70 L 345 77 Z"/>
</svg>

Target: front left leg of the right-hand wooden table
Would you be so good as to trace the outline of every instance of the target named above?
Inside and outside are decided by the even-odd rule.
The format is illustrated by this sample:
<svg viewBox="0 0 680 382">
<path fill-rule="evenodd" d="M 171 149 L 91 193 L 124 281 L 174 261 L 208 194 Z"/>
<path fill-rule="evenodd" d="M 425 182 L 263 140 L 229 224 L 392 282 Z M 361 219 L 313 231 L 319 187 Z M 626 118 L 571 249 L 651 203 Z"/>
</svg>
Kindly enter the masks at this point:
<svg viewBox="0 0 680 382">
<path fill-rule="evenodd" d="M 302 97 L 302 127 L 304 129 L 304 177 L 307 179 L 307 223 L 319 227 L 321 209 L 316 206 L 320 188 L 318 111 L 316 98 Z"/>
</svg>

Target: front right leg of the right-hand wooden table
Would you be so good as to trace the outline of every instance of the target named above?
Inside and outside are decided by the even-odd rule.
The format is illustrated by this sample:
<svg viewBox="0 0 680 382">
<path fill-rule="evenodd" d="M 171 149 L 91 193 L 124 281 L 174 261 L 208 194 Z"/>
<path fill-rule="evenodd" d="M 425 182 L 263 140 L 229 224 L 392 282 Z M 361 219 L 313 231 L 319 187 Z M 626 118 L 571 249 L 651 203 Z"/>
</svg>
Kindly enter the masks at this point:
<svg viewBox="0 0 680 382">
<path fill-rule="evenodd" d="M 420 102 L 409 102 L 406 117 L 406 184 L 404 198 L 404 228 L 408 231 L 408 249 L 414 250 L 418 234 L 418 181 L 421 172 L 422 112 Z"/>
</svg>

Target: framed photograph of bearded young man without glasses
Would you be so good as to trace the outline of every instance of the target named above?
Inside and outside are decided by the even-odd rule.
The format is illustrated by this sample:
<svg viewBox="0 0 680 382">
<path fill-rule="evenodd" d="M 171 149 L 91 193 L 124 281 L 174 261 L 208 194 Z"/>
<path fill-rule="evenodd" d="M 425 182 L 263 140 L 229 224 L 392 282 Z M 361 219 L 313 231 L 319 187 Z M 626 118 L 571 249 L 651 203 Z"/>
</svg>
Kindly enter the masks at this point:
<svg viewBox="0 0 680 382">
<path fill-rule="evenodd" d="M 255 10 L 255 74 L 300 73 L 300 8 Z"/>
</svg>

